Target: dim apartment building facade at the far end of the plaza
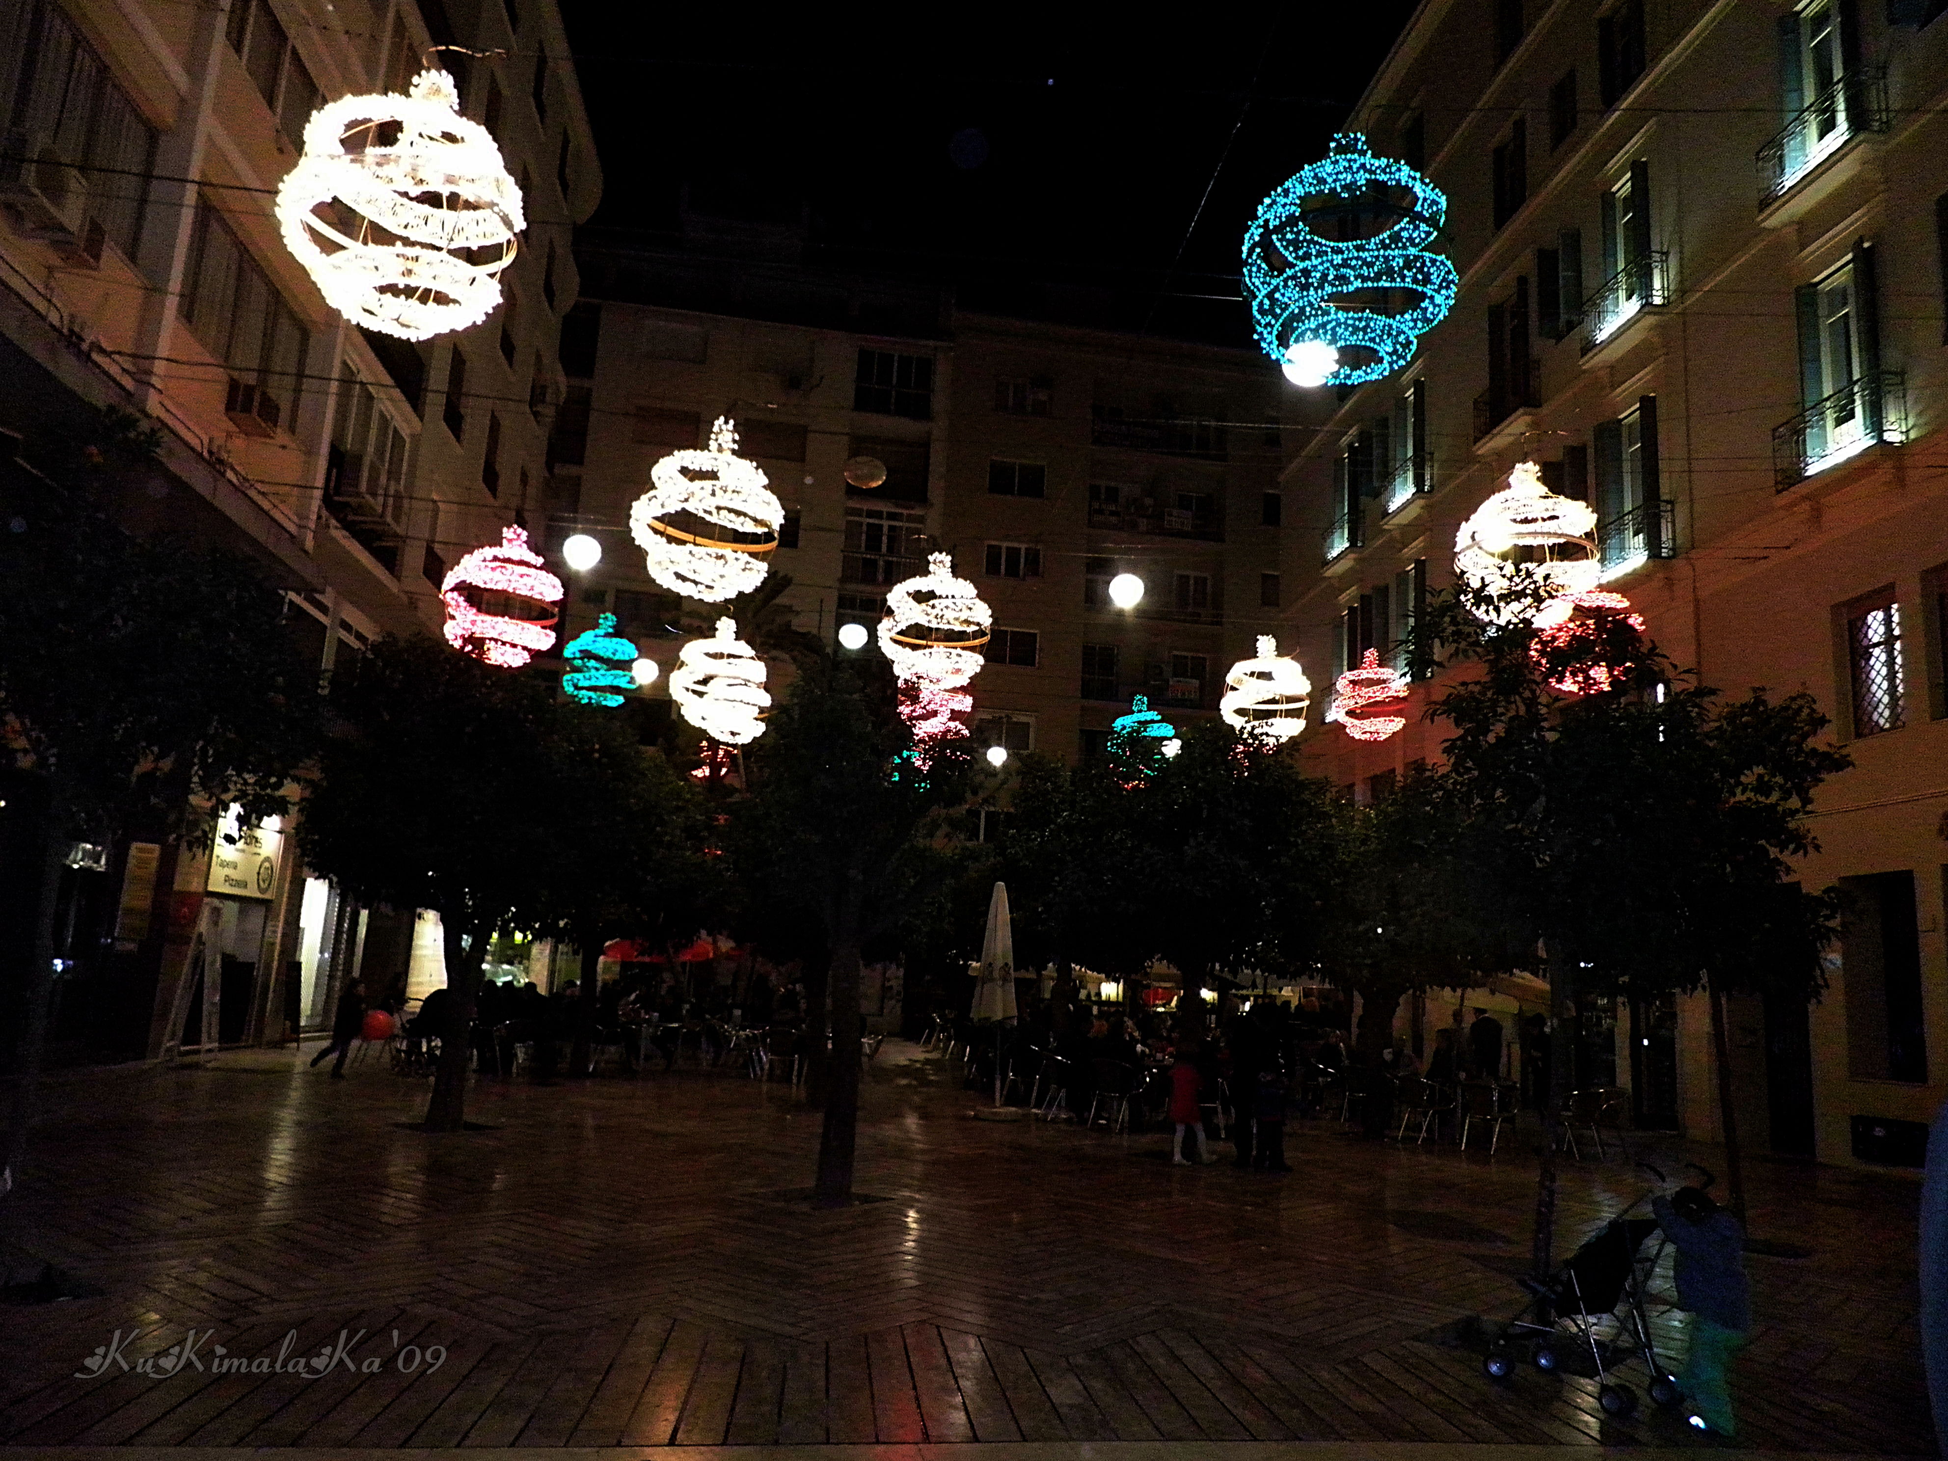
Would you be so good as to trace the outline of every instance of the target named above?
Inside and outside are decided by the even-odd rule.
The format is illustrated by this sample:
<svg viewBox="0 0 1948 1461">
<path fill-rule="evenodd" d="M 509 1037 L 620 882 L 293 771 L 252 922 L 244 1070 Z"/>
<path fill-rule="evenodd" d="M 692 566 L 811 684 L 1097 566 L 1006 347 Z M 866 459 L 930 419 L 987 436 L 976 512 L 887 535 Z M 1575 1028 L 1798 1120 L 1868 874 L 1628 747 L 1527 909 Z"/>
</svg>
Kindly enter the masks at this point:
<svg viewBox="0 0 1948 1461">
<path fill-rule="evenodd" d="M 976 744 L 1073 760 L 1103 746 L 1132 695 L 1179 717 L 1216 711 L 1225 670 L 1280 608 L 1276 413 L 1290 392 L 1276 376 L 1241 349 L 818 275 L 777 257 L 764 230 L 697 234 L 742 257 L 582 245 L 598 343 L 569 353 L 592 372 L 571 378 L 586 432 L 557 438 L 549 530 L 596 534 L 604 563 L 575 625 L 616 612 L 668 668 L 682 616 L 692 629 L 709 618 L 649 581 L 627 518 L 656 458 L 727 415 L 785 506 L 773 571 L 791 579 L 795 627 L 838 647 L 842 625 L 879 623 L 886 590 L 927 553 L 953 553 L 993 608 L 970 688 Z M 849 481 L 857 458 L 884 481 Z M 1145 584 L 1130 610 L 1108 600 L 1118 573 Z"/>
</svg>

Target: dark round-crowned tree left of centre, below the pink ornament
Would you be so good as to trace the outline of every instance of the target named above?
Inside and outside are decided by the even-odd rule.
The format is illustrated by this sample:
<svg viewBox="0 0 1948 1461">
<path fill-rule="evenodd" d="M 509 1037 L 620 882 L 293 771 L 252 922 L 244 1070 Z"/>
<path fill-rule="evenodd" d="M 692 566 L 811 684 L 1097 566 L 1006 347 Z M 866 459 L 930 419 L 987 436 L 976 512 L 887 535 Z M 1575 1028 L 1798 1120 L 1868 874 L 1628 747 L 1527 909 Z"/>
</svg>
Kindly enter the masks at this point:
<svg viewBox="0 0 1948 1461">
<path fill-rule="evenodd" d="M 440 916 L 452 997 L 425 1124 L 458 1132 L 487 943 L 545 918 L 549 859 L 612 785 L 614 752 L 545 680 L 427 637 L 382 639 L 341 666 L 331 713 L 298 845 L 360 902 Z"/>
</svg>

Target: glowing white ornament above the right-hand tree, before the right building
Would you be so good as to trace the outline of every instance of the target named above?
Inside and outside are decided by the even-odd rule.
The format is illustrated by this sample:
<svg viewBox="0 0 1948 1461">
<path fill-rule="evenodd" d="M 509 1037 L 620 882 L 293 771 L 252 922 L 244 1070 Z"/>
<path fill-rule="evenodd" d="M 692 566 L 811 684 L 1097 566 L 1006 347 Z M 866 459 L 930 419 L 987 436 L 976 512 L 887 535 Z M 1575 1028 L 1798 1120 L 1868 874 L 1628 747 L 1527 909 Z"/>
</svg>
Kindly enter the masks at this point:
<svg viewBox="0 0 1948 1461">
<path fill-rule="evenodd" d="M 1475 508 L 1475 516 L 1455 534 L 1455 579 L 1490 598 L 1510 592 L 1519 598 L 1519 586 L 1527 579 L 1547 596 L 1535 608 L 1521 602 L 1488 608 L 1494 623 L 1566 618 L 1568 610 L 1556 612 L 1556 602 L 1595 588 L 1603 577 L 1603 561 L 1590 536 L 1593 528 L 1595 512 L 1549 491 L 1541 469 L 1533 462 L 1519 462 L 1508 473 L 1508 487 Z"/>
</svg>

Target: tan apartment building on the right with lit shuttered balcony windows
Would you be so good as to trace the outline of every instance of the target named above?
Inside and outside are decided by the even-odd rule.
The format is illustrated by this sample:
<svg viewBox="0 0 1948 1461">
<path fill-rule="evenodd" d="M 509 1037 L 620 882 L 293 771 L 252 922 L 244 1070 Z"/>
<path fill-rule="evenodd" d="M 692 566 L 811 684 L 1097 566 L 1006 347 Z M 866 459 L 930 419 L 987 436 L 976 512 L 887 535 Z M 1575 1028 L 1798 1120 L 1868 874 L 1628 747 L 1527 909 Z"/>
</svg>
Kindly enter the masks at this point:
<svg viewBox="0 0 1948 1461">
<path fill-rule="evenodd" d="M 1286 473 L 1307 664 L 1399 655 L 1459 524 L 1533 458 L 1679 666 L 1819 699 L 1854 769 L 1802 877 L 1851 894 L 1847 935 L 1810 1015 L 1734 1001 L 1734 1073 L 1747 1140 L 1823 1161 L 1917 1163 L 1948 1095 L 1940 10 L 1424 4 L 1350 127 L 1447 195 L 1461 292 Z M 1364 797 L 1440 734 L 1325 725 L 1303 754 Z M 1716 1132 L 1703 1001 L 1584 1023 L 1592 1083 Z"/>
</svg>

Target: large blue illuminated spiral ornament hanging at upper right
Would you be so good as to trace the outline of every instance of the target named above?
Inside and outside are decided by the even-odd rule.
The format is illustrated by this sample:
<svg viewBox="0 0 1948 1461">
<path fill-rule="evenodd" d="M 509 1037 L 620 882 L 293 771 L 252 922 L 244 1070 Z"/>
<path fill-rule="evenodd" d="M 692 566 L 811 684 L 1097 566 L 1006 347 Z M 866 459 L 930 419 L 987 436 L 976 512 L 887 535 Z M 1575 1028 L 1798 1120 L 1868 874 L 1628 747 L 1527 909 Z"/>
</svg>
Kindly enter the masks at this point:
<svg viewBox="0 0 1948 1461">
<path fill-rule="evenodd" d="M 1445 216 L 1447 197 L 1405 162 L 1375 158 L 1358 132 L 1334 136 L 1327 158 L 1274 189 L 1245 230 L 1258 345 L 1301 386 L 1358 386 L 1405 366 L 1461 284 L 1447 259 L 1426 251 Z M 1375 222 L 1385 226 L 1367 232 Z M 1418 300 L 1369 308 L 1395 290 Z M 1348 351 L 1371 358 L 1348 360 Z"/>
</svg>

